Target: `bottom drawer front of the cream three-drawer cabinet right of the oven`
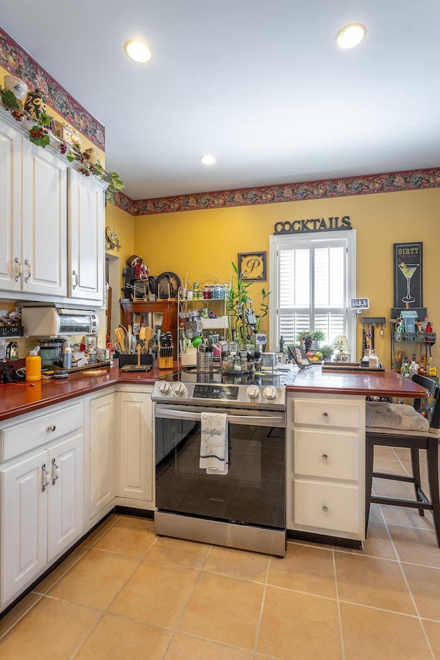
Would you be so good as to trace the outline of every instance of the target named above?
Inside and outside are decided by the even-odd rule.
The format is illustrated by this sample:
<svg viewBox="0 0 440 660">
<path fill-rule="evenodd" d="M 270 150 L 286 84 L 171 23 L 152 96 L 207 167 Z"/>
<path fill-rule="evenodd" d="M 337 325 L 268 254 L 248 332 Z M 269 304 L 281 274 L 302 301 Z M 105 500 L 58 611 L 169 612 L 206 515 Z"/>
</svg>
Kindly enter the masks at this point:
<svg viewBox="0 0 440 660">
<path fill-rule="evenodd" d="M 359 494 L 355 486 L 296 481 L 294 485 L 296 525 L 359 533 Z"/>
</svg>

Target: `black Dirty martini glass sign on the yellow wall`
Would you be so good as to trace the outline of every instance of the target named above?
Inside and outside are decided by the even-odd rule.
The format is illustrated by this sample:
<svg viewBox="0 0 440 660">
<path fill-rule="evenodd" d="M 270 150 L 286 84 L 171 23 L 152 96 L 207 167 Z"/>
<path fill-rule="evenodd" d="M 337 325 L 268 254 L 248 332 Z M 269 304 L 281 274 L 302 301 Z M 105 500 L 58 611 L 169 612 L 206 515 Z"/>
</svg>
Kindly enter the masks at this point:
<svg viewBox="0 0 440 660">
<path fill-rule="evenodd" d="M 394 243 L 394 307 L 423 307 L 423 243 Z"/>
</svg>

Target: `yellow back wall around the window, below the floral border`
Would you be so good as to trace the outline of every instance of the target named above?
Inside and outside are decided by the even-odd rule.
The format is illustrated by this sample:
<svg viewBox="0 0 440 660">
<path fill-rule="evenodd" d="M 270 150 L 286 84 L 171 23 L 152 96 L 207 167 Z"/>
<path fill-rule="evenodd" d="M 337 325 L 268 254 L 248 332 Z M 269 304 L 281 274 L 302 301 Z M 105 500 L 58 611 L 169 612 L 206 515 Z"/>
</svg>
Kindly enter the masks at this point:
<svg viewBox="0 0 440 660">
<path fill-rule="evenodd" d="M 269 236 L 277 221 L 344 215 L 349 215 L 357 232 L 357 296 L 370 298 L 370 309 L 363 315 L 384 316 L 387 320 L 384 338 L 376 335 L 375 345 L 381 360 L 389 366 L 393 243 L 423 242 L 423 305 L 428 307 L 433 330 L 440 333 L 439 188 L 139 217 L 133 221 L 133 252 L 144 259 L 151 275 L 172 271 L 185 278 L 188 272 L 192 281 L 213 272 L 224 281 L 229 278 L 230 263 L 236 263 L 239 252 L 269 252 Z M 267 282 L 258 283 L 254 285 L 255 293 L 251 293 L 257 314 L 262 285 L 269 288 Z M 406 349 L 409 357 L 412 347 L 415 344 Z M 361 350 L 359 322 L 358 359 Z M 438 364 L 437 345 L 432 354 Z"/>
</svg>

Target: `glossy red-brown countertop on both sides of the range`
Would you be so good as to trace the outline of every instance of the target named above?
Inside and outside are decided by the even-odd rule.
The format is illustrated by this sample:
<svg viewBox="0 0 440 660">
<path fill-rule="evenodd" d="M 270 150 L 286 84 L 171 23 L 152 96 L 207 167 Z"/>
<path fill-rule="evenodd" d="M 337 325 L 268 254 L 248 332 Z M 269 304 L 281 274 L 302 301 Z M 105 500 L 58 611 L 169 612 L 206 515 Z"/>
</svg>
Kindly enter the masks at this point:
<svg viewBox="0 0 440 660">
<path fill-rule="evenodd" d="M 66 380 L 42 380 L 31 384 L 0 385 L 0 421 L 23 415 L 32 410 L 39 410 L 62 401 L 69 401 L 117 384 L 148 385 L 164 377 L 173 369 L 157 369 L 140 373 L 126 373 L 118 366 L 98 368 L 70 374 Z M 361 396 L 416 397 L 426 395 L 426 391 L 408 378 L 403 378 L 394 371 L 380 373 L 322 373 L 318 365 L 299 371 L 292 385 L 287 386 L 289 393 L 306 392 L 311 394 L 340 394 Z"/>
</svg>

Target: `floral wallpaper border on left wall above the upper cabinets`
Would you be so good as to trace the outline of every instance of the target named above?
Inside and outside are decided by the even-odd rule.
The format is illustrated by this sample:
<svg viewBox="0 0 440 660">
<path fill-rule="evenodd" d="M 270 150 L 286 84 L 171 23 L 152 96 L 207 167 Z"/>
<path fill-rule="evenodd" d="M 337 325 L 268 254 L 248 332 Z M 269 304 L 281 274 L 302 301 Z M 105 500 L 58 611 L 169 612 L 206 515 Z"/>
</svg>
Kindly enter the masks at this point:
<svg viewBox="0 0 440 660">
<path fill-rule="evenodd" d="M 0 28 L 0 65 L 13 76 L 23 80 L 32 90 L 38 87 L 56 112 L 62 115 L 80 133 L 105 151 L 105 129 L 67 91 L 58 85 L 9 34 Z"/>
</svg>

